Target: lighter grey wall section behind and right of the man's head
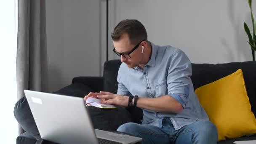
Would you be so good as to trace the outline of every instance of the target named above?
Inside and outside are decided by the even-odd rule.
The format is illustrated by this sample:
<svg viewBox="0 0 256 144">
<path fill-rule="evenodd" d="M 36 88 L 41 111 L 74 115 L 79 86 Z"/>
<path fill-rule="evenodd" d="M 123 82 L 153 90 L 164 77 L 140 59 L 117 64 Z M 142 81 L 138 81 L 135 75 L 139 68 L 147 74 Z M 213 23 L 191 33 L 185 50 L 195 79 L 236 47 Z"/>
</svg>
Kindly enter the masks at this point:
<svg viewBox="0 0 256 144">
<path fill-rule="evenodd" d="M 115 24 L 139 19 L 149 40 L 181 48 L 194 63 L 252 60 L 243 29 L 245 21 L 252 25 L 247 0 L 116 0 L 116 8 Z"/>
</svg>

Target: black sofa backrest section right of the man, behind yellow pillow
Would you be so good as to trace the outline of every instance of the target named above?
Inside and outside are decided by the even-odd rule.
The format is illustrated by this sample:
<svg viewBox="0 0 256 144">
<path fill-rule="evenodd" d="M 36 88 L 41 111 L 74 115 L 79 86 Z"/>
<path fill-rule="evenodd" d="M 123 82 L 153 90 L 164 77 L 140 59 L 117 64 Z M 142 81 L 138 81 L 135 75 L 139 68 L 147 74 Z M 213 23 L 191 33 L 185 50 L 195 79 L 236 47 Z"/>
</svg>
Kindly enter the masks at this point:
<svg viewBox="0 0 256 144">
<path fill-rule="evenodd" d="M 226 64 L 192 64 L 192 82 L 194 88 L 219 80 L 242 69 L 251 111 L 256 115 L 256 61 L 232 62 Z"/>
</svg>

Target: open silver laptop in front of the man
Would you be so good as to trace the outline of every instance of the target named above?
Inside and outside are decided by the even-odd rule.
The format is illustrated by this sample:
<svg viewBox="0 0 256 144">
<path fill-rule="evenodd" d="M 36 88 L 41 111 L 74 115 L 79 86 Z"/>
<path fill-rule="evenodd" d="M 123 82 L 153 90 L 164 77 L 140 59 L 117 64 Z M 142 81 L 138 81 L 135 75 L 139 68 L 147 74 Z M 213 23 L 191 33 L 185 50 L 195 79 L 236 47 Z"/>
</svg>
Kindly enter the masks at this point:
<svg viewBox="0 0 256 144">
<path fill-rule="evenodd" d="M 59 144 L 100 144 L 99 139 L 117 144 L 135 144 L 142 140 L 94 129 L 83 98 L 28 90 L 24 93 L 44 140 Z"/>
</svg>

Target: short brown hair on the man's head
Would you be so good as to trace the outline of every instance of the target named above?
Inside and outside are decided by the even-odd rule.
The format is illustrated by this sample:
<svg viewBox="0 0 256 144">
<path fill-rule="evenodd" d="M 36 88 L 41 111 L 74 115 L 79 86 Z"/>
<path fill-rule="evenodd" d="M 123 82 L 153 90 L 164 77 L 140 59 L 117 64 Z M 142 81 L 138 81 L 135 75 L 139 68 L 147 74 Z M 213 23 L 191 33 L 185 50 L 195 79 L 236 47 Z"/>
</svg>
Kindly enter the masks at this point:
<svg viewBox="0 0 256 144">
<path fill-rule="evenodd" d="M 127 33 L 133 45 L 136 45 L 141 40 L 147 41 L 147 31 L 141 22 L 136 19 L 125 19 L 120 21 L 111 34 L 112 40 L 120 40 L 120 37 Z"/>
</svg>

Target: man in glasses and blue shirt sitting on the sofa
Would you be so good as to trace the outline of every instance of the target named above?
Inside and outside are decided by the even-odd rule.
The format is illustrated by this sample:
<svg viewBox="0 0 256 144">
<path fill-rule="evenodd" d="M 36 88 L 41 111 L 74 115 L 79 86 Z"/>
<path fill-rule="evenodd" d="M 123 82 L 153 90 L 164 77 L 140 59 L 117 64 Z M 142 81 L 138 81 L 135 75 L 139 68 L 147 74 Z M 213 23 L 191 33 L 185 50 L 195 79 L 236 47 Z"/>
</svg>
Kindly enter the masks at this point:
<svg viewBox="0 0 256 144">
<path fill-rule="evenodd" d="M 197 99 L 186 54 L 149 42 L 137 20 L 120 21 L 111 36 L 122 62 L 117 94 L 89 93 L 85 100 L 142 108 L 142 124 L 125 123 L 117 131 L 141 137 L 144 144 L 216 144 L 217 129 Z"/>
</svg>

